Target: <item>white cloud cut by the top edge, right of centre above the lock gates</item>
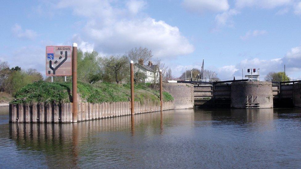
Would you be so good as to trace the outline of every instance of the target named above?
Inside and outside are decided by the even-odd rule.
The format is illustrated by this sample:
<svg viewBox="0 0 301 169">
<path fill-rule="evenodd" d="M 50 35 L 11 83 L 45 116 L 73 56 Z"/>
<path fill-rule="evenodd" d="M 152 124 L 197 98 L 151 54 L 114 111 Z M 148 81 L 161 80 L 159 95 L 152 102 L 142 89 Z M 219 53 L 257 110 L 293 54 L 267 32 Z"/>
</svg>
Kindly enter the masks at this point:
<svg viewBox="0 0 301 169">
<path fill-rule="evenodd" d="M 183 6 L 188 11 L 199 14 L 207 11 L 223 12 L 229 9 L 227 0 L 184 0 Z"/>
</svg>

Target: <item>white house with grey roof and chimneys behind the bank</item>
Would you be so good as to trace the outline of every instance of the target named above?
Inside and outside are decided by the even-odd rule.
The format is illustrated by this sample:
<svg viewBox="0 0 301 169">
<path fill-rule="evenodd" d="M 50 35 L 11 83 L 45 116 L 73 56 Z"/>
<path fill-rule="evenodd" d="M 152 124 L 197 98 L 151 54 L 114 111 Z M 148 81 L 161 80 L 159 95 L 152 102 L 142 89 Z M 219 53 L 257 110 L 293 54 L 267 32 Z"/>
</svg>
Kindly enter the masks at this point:
<svg viewBox="0 0 301 169">
<path fill-rule="evenodd" d="M 143 60 L 139 60 L 138 63 L 135 63 L 134 72 L 142 72 L 146 75 L 144 78 L 145 83 L 159 82 L 159 67 L 158 65 L 153 65 L 151 61 L 148 62 L 148 65 L 143 65 Z"/>
</svg>

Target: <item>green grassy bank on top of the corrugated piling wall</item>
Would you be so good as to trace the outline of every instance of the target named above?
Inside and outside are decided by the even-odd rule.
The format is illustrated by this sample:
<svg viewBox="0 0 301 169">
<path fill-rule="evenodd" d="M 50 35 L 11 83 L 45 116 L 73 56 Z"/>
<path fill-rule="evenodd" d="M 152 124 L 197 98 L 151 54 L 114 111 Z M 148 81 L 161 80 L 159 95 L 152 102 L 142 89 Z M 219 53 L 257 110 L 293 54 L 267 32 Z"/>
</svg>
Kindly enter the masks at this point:
<svg viewBox="0 0 301 169">
<path fill-rule="evenodd" d="M 135 101 L 159 103 L 159 91 L 150 89 L 149 85 L 135 85 Z M 78 82 L 77 91 L 83 102 L 86 99 L 89 103 L 122 102 L 129 101 L 130 84 Z M 69 103 L 72 99 L 72 83 L 34 82 L 17 91 L 14 98 L 24 100 L 13 100 L 11 103 Z M 163 92 L 163 100 L 171 101 L 173 98 L 168 92 Z"/>
</svg>

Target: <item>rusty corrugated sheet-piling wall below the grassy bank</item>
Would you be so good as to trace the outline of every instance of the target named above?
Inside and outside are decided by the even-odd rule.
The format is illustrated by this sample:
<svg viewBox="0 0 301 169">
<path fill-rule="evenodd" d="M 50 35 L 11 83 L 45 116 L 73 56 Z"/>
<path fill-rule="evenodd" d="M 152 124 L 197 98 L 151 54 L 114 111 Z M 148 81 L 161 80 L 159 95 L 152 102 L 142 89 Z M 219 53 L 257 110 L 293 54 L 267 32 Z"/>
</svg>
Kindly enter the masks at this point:
<svg viewBox="0 0 301 169">
<path fill-rule="evenodd" d="M 78 103 L 77 122 L 130 115 L 130 102 Z M 160 111 L 159 103 L 135 102 L 135 114 Z M 163 110 L 174 109 L 174 103 L 163 102 Z M 72 103 L 10 104 L 11 123 L 72 123 Z"/>
</svg>

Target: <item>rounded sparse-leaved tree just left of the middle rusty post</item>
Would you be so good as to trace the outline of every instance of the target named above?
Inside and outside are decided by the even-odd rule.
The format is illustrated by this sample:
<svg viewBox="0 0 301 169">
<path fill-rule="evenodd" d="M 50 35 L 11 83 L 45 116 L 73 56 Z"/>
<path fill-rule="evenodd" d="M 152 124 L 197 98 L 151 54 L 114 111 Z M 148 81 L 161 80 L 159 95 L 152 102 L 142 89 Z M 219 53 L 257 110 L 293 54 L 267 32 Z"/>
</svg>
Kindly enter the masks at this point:
<svg viewBox="0 0 301 169">
<path fill-rule="evenodd" d="M 104 81 L 115 81 L 118 84 L 129 76 L 130 64 L 125 55 L 111 55 L 109 57 L 105 57 L 102 60 L 102 66 L 105 70 Z"/>
</svg>

